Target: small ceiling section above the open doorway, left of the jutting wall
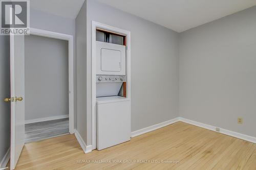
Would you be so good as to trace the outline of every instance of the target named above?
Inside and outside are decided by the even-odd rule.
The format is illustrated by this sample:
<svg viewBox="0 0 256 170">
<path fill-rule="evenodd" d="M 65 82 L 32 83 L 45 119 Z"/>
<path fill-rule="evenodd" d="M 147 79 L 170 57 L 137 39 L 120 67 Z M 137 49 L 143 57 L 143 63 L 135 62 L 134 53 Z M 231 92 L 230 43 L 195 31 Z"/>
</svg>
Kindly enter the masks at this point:
<svg viewBox="0 0 256 170">
<path fill-rule="evenodd" d="M 30 7 L 46 13 L 75 19 L 84 0 L 30 0 Z"/>
</svg>

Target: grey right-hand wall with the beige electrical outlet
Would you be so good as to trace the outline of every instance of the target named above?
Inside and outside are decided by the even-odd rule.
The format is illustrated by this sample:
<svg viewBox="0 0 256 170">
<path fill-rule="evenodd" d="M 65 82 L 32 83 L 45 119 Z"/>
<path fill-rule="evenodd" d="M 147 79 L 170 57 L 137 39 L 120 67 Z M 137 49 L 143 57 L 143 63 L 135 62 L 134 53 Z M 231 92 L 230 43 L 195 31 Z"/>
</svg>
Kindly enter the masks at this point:
<svg viewBox="0 0 256 170">
<path fill-rule="evenodd" d="M 256 136 L 255 16 L 252 7 L 181 33 L 182 117 Z"/>
</svg>

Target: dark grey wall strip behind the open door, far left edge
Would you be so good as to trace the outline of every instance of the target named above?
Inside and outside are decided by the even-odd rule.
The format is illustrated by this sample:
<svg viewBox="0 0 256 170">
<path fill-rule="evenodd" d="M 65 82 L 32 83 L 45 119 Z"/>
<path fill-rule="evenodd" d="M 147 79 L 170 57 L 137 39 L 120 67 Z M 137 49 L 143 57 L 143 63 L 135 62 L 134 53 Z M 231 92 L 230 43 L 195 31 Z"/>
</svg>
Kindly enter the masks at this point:
<svg viewBox="0 0 256 170">
<path fill-rule="evenodd" d="M 0 35 L 0 162 L 10 147 L 10 41 L 9 36 Z M 0 165 L 1 167 L 1 165 Z"/>
</svg>

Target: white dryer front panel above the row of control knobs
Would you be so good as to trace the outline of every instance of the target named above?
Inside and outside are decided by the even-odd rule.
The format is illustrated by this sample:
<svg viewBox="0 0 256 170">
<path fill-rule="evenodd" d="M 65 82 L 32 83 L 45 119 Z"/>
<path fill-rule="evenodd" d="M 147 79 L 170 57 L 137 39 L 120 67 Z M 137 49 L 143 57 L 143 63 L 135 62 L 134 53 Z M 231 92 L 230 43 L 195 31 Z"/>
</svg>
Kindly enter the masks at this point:
<svg viewBox="0 0 256 170">
<path fill-rule="evenodd" d="M 125 75 L 125 46 L 96 41 L 97 75 Z"/>
</svg>

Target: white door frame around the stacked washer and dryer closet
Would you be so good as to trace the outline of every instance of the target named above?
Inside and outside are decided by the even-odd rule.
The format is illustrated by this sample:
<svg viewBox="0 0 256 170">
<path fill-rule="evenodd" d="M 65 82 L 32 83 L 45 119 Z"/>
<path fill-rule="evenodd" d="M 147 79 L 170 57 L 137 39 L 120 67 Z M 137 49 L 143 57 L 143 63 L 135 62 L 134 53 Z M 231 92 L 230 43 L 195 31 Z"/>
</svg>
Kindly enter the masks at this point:
<svg viewBox="0 0 256 170">
<path fill-rule="evenodd" d="M 126 36 L 126 98 L 131 100 L 131 32 L 92 21 L 92 150 L 96 149 L 96 29 Z"/>
</svg>

